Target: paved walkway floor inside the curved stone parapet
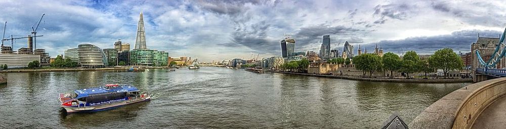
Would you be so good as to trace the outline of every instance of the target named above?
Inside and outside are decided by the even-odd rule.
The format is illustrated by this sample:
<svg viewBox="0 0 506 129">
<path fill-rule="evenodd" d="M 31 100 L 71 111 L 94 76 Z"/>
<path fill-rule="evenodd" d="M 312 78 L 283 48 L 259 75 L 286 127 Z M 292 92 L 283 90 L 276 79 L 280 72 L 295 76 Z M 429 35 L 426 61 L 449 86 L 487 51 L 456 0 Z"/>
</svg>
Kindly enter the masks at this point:
<svg viewBox="0 0 506 129">
<path fill-rule="evenodd" d="M 506 97 L 488 106 L 476 119 L 473 128 L 506 128 Z"/>
</svg>

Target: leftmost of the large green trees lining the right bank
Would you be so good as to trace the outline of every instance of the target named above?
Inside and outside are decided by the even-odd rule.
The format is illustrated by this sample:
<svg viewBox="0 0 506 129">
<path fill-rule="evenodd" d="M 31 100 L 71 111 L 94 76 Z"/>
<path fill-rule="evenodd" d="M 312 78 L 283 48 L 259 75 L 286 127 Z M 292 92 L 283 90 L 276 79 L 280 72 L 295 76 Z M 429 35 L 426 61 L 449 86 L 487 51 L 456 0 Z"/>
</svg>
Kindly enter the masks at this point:
<svg viewBox="0 0 506 129">
<path fill-rule="evenodd" d="M 353 58 L 353 63 L 356 69 L 363 71 L 364 76 L 368 72 L 369 77 L 382 68 L 382 59 L 376 54 L 361 54 Z"/>
</svg>

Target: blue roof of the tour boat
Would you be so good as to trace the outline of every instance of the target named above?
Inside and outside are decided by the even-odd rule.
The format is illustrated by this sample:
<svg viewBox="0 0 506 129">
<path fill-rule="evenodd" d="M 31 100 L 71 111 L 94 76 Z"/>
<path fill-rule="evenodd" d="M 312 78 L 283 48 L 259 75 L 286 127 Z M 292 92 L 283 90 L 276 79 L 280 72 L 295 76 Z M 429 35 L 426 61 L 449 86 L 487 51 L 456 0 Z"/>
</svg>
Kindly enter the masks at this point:
<svg viewBox="0 0 506 129">
<path fill-rule="evenodd" d="M 89 88 L 89 89 L 81 89 L 81 90 L 75 90 L 75 94 L 77 94 L 76 98 L 82 98 L 82 97 L 88 97 L 96 94 L 103 94 L 103 93 L 124 93 L 124 92 L 135 92 L 139 91 L 136 87 L 130 84 L 120 84 L 120 85 L 112 85 L 116 86 L 115 88 L 111 88 L 111 85 L 106 85 L 104 87 L 96 87 L 96 88 Z"/>
</svg>

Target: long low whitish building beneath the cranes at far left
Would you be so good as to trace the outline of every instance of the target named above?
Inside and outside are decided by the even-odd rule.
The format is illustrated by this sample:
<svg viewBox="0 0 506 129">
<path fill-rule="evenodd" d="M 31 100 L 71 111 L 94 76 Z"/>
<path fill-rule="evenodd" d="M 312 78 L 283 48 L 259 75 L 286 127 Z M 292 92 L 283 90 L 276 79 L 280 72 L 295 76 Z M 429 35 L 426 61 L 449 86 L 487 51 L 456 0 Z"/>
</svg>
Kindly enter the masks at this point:
<svg viewBox="0 0 506 129">
<path fill-rule="evenodd" d="M 28 63 L 39 61 L 40 55 L 33 54 L 0 54 L 0 64 L 9 68 L 28 67 Z"/>
</svg>

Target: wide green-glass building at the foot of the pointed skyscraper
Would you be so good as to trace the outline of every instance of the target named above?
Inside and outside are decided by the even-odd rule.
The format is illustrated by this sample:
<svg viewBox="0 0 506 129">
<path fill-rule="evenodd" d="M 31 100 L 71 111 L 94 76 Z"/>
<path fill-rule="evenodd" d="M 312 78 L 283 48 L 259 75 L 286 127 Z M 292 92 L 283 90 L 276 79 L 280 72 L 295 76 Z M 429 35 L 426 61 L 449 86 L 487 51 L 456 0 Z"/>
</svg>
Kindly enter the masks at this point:
<svg viewBox="0 0 506 129">
<path fill-rule="evenodd" d="M 141 66 L 167 66 L 168 53 L 151 49 L 130 51 L 130 64 Z"/>
</svg>

